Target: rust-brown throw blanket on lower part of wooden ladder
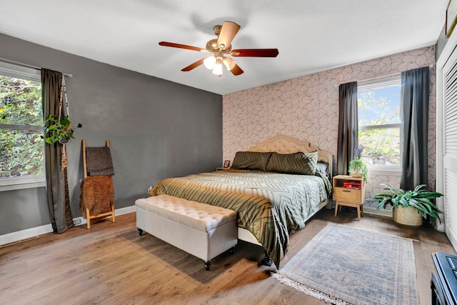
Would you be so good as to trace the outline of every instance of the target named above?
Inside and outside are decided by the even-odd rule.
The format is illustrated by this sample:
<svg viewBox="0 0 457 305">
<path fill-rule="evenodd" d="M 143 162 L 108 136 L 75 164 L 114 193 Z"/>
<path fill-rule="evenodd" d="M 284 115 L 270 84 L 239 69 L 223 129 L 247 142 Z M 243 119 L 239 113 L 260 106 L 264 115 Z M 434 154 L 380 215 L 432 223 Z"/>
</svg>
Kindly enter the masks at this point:
<svg viewBox="0 0 457 305">
<path fill-rule="evenodd" d="M 87 218 L 86 208 L 92 216 L 111 211 L 114 204 L 114 186 L 111 176 L 87 177 L 81 181 L 79 211 Z"/>
</svg>

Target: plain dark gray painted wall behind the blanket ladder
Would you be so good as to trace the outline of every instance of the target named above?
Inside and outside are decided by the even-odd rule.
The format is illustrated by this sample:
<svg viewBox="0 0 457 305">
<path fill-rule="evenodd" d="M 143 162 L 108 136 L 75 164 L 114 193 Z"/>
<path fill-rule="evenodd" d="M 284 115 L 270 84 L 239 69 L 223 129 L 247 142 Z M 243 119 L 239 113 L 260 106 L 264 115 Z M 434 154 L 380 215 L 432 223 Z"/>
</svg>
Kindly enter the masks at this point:
<svg viewBox="0 0 457 305">
<path fill-rule="evenodd" d="M 71 211 L 79 212 L 81 139 L 114 162 L 116 209 L 170 176 L 222 163 L 222 96 L 0 34 L 0 58 L 73 74 L 66 78 L 75 137 L 67 145 Z M 148 63 L 145 63 L 148 64 Z M 176 73 L 180 73 L 179 69 Z M 189 77 L 192 77 L 189 74 Z M 0 192 L 0 235 L 49 224 L 45 188 Z"/>
</svg>

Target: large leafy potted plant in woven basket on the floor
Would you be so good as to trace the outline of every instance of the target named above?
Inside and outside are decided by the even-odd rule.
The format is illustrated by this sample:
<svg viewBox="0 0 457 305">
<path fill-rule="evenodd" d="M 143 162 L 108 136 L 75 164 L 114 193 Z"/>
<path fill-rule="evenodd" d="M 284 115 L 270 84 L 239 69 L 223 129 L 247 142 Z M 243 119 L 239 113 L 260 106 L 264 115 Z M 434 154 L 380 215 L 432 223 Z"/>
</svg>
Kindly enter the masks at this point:
<svg viewBox="0 0 457 305">
<path fill-rule="evenodd" d="M 388 205 L 393 206 L 393 221 L 397 224 L 419 227 L 422 226 L 422 220 L 427 215 L 441 221 L 438 215 L 441 211 L 430 200 L 441 197 L 443 194 L 423 189 L 425 184 L 416 186 L 412 191 L 396 189 L 388 184 L 381 185 L 386 188 L 371 198 L 379 201 L 377 209 L 386 209 Z"/>
</svg>

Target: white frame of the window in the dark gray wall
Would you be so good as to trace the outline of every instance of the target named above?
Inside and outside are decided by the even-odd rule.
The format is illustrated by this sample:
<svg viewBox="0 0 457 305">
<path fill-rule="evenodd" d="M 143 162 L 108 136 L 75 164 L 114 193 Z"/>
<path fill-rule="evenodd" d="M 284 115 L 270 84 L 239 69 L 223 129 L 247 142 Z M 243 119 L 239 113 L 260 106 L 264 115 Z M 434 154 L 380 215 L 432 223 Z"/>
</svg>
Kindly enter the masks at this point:
<svg viewBox="0 0 457 305">
<path fill-rule="evenodd" d="M 33 69 L 25 66 L 19 66 L 16 64 L 9 64 L 0 61 L 0 75 L 7 77 L 14 77 L 17 79 L 26 79 L 28 81 L 38 81 L 41 83 L 41 70 Z M 44 122 L 43 122 L 44 124 Z M 43 131 L 43 126 L 27 126 L 27 125 L 15 125 L 15 124 L 0 124 L 0 129 L 6 130 L 32 130 L 32 131 Z M 44 146 L 44 140 L 43 140 Z M 43 156 L 44 158 L 44 156 Z M 45 160 L 43 159 L 43 172 L 45 173 Z M 31 189 L 37 187 L 46 186 L 46 175 L 30 175 L 30 176 L 19 176 L 0 178 L 0 191 L 13 191 L 18 189 Z"/>
</svg>

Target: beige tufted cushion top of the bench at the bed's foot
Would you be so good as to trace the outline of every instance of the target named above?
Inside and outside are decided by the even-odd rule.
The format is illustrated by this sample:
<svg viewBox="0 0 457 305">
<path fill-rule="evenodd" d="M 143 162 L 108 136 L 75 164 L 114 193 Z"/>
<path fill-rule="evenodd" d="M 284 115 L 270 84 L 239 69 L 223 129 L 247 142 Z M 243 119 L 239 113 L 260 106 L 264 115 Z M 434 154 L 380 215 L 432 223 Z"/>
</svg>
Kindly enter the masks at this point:
<svg viewBox="0 0 457 305">
<path fill-rule="evenodd" d="M 146 211 L 200 231 L 209 232 L 218 226 L 236 221 L 235 211 L 169 195 L 138 199 L 135 204 Z"/>
</svg>

